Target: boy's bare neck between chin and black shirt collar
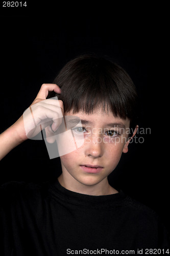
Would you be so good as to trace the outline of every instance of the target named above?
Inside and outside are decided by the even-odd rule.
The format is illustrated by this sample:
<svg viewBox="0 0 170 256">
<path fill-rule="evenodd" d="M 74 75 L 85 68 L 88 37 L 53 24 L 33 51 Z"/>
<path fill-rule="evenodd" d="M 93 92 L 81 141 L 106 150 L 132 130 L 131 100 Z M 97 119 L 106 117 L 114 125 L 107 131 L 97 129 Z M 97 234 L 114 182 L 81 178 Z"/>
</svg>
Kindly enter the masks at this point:
<svg viewBox="0 0 170 256">
<path fill-rule="evenodd" d="M 58 177 L 58 181 L 64 188 L 79 194 L 105 196 L 118 193 L 116 189 L 109 185 L 107 178 L 95 185 L 85 185 L 76 181 L 72 176 L 67 179 L 67 177 L 61 174 Z"/>
</svg>

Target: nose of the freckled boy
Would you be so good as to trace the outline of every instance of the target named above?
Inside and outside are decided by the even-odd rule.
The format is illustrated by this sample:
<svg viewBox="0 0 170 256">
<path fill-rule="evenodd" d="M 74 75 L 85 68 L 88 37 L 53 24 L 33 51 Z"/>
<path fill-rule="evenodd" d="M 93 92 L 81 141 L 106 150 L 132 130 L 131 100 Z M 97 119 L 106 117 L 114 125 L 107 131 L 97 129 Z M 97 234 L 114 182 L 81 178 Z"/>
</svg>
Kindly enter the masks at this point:
<svg viewBox="0 0 170 256">
<path fill-rule="evenodd" d="M 85 140 L 85 155 L 93 158 L 102 157 L 104 153 L 104 143 L 99 135 L 89 136 Z"/>
</svg>

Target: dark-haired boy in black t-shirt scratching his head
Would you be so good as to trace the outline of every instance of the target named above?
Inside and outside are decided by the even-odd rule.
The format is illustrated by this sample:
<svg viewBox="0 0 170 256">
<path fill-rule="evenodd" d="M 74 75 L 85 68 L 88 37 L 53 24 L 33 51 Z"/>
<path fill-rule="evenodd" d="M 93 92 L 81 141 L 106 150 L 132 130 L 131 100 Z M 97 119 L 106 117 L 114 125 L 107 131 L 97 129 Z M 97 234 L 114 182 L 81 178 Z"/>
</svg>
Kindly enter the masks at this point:
<svg viewBox="0 0 170 256">
<path fill-rule="evenodd" d="M 109 60 L 80 56 L 54 82 L 41 87 L 28 115 L 0 137 L 2 159 L 45 130 L 48 143 L 58 138 L 62 166 L 53 183 L 2 186 L 3 255 L 169 253 L 168 234 L 155 212 L 107 179 L 138 127 L 129 75 Z M 63 123 L 71 138 L 58 132 Z"/>
</svg>

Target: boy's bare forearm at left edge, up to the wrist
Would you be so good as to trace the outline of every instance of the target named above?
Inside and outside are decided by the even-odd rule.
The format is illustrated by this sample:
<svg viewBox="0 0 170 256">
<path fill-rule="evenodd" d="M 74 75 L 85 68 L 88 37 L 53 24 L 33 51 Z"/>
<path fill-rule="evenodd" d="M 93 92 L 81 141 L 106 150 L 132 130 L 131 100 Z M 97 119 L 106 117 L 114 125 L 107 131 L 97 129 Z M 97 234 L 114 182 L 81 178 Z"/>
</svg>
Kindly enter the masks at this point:
<svg viewBox="0 0 170 256">
<path fill-rule="evenodd" d="M 22 117 L 20 118 L 22 122 Z M 25 131 L 18 132 L 18 123 L 14 123 L 5 132 L 0 134 L 0 160 L 2 160 L 14 147 L 27 139 Z"/>
</svg>

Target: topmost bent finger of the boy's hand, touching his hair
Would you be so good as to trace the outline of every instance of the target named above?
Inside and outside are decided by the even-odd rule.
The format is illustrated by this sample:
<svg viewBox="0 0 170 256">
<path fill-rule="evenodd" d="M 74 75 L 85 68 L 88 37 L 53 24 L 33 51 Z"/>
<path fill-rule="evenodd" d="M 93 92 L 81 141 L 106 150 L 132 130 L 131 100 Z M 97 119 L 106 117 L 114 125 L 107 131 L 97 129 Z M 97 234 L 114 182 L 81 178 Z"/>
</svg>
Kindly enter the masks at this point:
<svg viewBox="0 0 170 256">
<path fill-rule="evenodd" d="M 59 88 L 59 86 L 57 86 L 57 84 L 55 83 L 43 83 L 41 86 L 40 91 L 38 92 L 36 99 L 46 99 L 46 97 L 48 96 L 48 92 L 52 92 L 55 91 L 56 93 L 60 94 L 61 93 L 61 89 Z"/>
</svg>

